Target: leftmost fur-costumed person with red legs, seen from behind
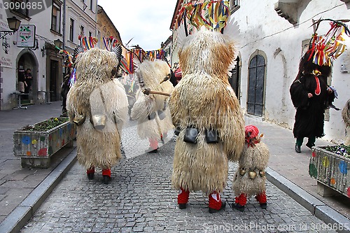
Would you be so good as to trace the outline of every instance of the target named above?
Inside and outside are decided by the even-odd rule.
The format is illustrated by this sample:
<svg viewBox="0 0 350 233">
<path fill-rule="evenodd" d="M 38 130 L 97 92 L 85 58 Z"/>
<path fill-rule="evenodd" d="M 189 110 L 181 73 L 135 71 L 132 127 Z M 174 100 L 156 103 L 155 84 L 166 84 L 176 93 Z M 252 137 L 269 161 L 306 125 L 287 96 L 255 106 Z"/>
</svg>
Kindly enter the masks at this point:
<svg viewBox="0 0 350 233">
<path fill-rule="evenodd" d="M 114 52 L 92 48 L 80 53 L 76 83 L 67 96 L 69 119 L 78 125 L 78 162 L 87 168 L 89 179 L 100 167 L 104 183 L 111 181 L 111 166 L 122 157 L 120 134 L 127 120 L 127 94 L 112 77 L 117 64 Z"/>
</svg>

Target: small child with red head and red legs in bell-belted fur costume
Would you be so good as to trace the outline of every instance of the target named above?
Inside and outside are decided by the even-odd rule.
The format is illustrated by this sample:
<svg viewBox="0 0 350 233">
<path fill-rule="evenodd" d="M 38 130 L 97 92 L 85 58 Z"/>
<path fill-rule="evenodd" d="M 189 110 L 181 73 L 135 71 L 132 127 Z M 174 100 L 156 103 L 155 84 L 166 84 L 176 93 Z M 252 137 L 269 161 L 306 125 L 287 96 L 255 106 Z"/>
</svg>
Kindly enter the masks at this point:
<svg viewBox="0 0 350 233">
<path fill-rule="evenodd" d="M 246 145 L 239 158 L 239 168 L 237 169 L 232 189 L 237 196 L 233 209 L 244 211 L 246 199 L 251 195 L 256 195 L 262 209 L 266 209 L 267 201 L 265 194 L 265 169 L 269 161 L 269 149 L 265 143 L 260 142 L 262 135 L 254 125 L 246 126 Z"/>
</svg>

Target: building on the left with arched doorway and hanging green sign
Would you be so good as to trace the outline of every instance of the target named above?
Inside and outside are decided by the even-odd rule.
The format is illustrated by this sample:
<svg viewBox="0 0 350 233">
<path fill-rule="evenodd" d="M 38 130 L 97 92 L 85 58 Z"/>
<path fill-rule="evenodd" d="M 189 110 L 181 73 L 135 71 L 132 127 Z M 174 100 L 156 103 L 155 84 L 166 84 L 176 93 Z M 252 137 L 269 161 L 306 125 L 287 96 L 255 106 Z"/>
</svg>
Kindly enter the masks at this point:
<svg viewBox="0 0 350 233">
<path fill-rule="evenodd" d="M 10 3 L 18 5 L 11 8 Z M 18 90 L 20 71 L 27 68 L 33 77 L 29 101 L 34 104 L 59 101 L 65 72 L 64 55 L 59 54 L 54 41 L 62 41 L 61 48 L 73 52 L 80 43 L 79 34 L 96 36 L 97 0 L 0 0 L 1 30 L 9 30 L 6 19 L 13 16 L 21 21 L 20 27 L 35 27 L 35 43 L 30 48 L 18 47 L 18 32 L 1 39 L 1 44 L 6 46 L 0 49 L 0 110 L 17 105 L 13 93 Z"/>
</svg>

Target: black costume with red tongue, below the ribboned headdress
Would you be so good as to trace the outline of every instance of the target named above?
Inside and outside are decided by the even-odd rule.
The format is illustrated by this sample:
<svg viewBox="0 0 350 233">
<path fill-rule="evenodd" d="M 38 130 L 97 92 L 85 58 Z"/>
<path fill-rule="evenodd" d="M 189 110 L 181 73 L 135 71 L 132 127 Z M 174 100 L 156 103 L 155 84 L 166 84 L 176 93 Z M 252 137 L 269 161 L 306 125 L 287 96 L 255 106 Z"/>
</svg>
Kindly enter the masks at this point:
<svg viewBox="0 0 350 233">
<path fill-rule="evenodd" d="M 300 153 L 304 137 L 308 138 L 306 146 L 311 148 L 315 146 L 316 138 L 324 136 L 325 109 L 335 99 L 335 92 L 327 85 L 331 67 L 314 64 L 309 59 L 313 55 L 314 51 L 309 50 L 302 57 L 297 78 L 290 86 L 290 96 L 297 109 L 293 128 L 297 153 Z"/>
</svg>

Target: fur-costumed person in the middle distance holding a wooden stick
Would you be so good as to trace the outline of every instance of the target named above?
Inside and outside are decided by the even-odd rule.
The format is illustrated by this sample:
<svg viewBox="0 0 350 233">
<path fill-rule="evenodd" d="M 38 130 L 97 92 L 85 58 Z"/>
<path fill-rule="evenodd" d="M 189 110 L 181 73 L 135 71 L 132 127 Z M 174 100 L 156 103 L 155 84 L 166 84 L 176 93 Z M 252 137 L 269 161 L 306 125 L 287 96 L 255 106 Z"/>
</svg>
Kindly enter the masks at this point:
<svg viewBox="0 0 350 233">
<path fill-rule="evenodd" d="M 138 120 L 137 133 L 140 139 L 150 141 L 148 152 L 158 151 L 158 141 L 162 139 L 170 129 L 174 128 L 167 100 L 169 97 L 159 94 L 146 95 L 144 88 L 171 93 L 174 90 L 169 80 L 164 80 L 171 73 L 167 62 L 156 59 L 144 61 L 139 64 L 136 74 L 140 81 L 136 94 L 136 102 L 132 106 L 131 118 Z"/>
</svg>

